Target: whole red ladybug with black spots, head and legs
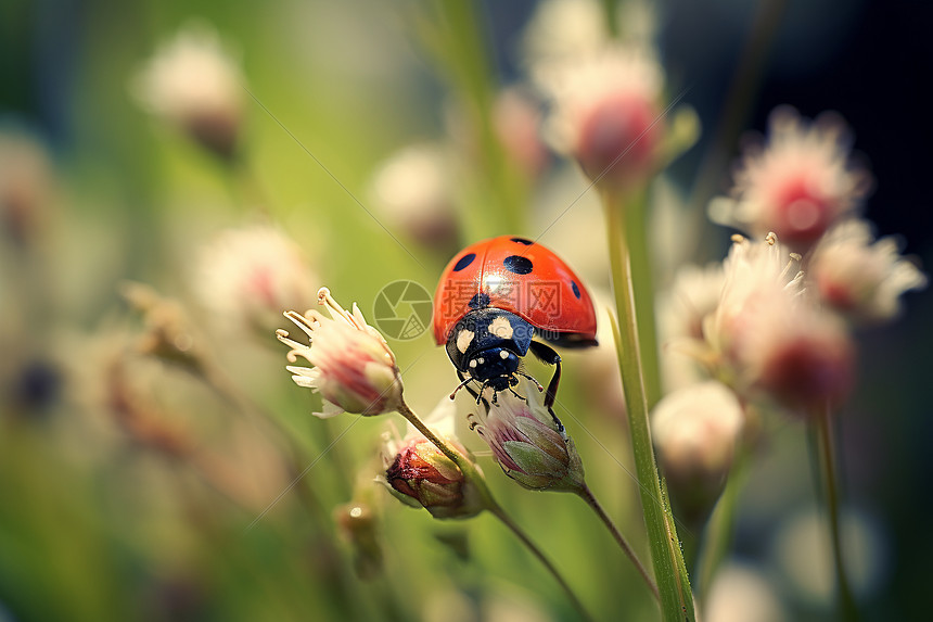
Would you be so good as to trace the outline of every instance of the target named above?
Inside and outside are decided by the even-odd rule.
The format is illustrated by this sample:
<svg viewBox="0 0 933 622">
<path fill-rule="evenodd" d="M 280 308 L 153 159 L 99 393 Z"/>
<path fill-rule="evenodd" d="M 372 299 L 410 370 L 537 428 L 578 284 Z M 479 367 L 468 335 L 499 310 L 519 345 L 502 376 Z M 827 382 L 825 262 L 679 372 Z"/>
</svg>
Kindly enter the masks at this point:
<svg viewBox="0 0 933 622">
<path fill-rule="evenodd" d="M 434 294 L 434 340 L 446 345 L 460 385 L 483 391 L 514 391 L 528 351 L 554 373 L 545 405 L 557 397 L 561 357 L 549 345 L 597 345 L 596 310 L 579 277 L 552 251 L 525 238 L 500 236 L 472 244 L 453 256 Z"/>
</svg>

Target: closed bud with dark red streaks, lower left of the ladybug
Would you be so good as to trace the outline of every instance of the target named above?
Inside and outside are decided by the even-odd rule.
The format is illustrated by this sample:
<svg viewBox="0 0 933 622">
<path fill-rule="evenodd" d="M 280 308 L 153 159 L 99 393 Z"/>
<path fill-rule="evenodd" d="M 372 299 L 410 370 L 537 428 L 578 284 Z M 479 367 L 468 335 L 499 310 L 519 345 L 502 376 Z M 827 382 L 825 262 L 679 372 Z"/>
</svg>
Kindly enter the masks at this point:
<svg viewBox="0 0 933 622">
<path fill-rule="evenodd" d="M 467 449 L 445 436 L 462 455 Z M 396 498 L 412 507 L 423 507 L 434 518 L 470 518 L 483 510 L 476 488 L 440 449 L 412 434 L 396 448 L 387 444 L 385 481 Z"/>
</svg>

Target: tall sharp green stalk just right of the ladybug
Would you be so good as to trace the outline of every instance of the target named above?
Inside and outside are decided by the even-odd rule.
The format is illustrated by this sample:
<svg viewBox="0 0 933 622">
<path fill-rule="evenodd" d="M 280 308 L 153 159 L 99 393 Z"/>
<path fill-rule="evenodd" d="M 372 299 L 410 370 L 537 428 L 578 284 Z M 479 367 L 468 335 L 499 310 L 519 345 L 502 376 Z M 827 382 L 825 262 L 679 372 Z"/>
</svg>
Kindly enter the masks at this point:
<svg viewBox="0 0 933 622">
<path fill-rule="evenodd" d="M 638 474 L 641 508 L 651 547 L 654 576 L 661 593 L 661 611 L 668 622 L 693 620 L 693 597 L 690 581 L 680 553 L 680 541 L 669 506 L 665 503 L 651 431 L 648 421 L 648 397 L 644 388 L 644 368 L 641 361 L 638 326 L 635 319 L 635 292 L 631 282 L 631 259 L 624 234 L 625 213 L 617 196 L 603 192 L 609 234 L 610 266 L 615 295 L 618 367 L 628 410 L 632 454 Z"/>
</svg>

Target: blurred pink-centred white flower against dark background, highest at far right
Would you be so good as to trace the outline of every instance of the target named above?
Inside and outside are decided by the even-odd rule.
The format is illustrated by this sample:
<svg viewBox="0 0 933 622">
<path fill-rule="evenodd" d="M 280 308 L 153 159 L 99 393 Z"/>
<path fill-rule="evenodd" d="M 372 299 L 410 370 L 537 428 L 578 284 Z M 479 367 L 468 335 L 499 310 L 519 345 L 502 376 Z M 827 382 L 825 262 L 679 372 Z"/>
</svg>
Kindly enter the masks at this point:
<svg viewBox="0 0 933 622">
<path fill-rule="evenodd" d="M 823 114 L 809 123 L 790 107 L 771 113 L 767 140 L 747 148 L 729 199 L 715 199 L 710 217 L 754 238 L 769 231 L 801 253 L 838 220 L 856 212 L 870 175 L 849 162 L 844 122 Z"/>
</svg>

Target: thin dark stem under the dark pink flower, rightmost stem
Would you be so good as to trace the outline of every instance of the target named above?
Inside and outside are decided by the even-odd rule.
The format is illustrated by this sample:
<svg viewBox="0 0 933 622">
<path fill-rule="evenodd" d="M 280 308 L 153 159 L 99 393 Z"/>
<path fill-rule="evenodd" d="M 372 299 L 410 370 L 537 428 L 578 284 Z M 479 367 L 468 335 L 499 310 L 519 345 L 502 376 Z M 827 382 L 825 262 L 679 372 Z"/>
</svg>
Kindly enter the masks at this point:
<svg viewBox="0 0 933 622">
<path fill-rule="evenodd" d="M 827 511 L 829 515 L 830 537 L 832 540 L 832 556 L 835 566 L 836 597 L 839 598 L 839 615 L 841 620 L 858 620 L 858 607 L 852 594 L 845 563 L 842 557 L 842 534 L 839 522 L 839 474 L 836 473 L 835 446 L 832 439 L 832 424 L 829 406 L 814 412 L 817 450 L 823 475 Z"/>
</svg>

